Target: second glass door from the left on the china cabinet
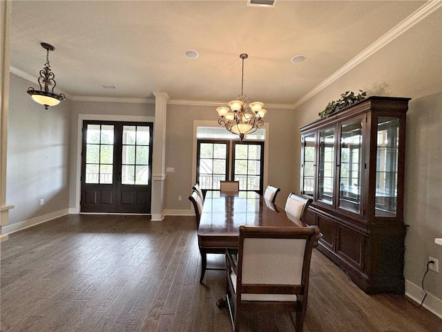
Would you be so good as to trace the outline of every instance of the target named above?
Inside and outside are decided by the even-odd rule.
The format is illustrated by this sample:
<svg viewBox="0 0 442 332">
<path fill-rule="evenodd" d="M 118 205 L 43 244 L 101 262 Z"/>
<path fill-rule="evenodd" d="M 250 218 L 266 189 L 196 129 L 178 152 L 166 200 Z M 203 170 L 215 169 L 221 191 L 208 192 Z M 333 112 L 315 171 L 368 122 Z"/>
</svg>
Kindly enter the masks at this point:
<svg viewBox="0 0 442 332">
<path fill-rule="evenodd" d="M 334 128 L 319 132 L 318 201 L 333 203 L 334 183 Z"/>
</svg>

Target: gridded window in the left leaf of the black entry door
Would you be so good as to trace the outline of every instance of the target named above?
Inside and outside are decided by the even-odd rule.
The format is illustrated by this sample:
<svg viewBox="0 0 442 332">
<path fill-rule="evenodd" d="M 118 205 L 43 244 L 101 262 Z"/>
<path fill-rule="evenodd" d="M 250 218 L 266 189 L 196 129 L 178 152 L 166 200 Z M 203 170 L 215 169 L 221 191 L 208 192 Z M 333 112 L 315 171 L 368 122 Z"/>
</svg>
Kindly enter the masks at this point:
<svg viewBox="0 0 442 332">
<path fill-rule="evenodd" d="M 113 183 L 113 141 L 113 125 L 87 125 L 85 183 Z"/>
</svg>

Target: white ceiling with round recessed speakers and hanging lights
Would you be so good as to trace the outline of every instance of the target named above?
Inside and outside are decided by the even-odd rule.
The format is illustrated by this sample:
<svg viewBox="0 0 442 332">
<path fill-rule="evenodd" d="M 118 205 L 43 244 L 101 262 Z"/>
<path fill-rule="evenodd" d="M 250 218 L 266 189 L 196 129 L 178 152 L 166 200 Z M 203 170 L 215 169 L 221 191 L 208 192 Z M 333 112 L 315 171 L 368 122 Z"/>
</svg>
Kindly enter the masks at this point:
<svg viewBox="0 0 442 332">
<path fill-rule="evenodd" d="M 55 46 L 49 60 L 56 92 L 70 98 L 153 98 L 162 91 L 172 100 L 225 102 L 240 94 L 239 55 L 248 53 L 244 94 L 294 105 L 424 3 L 12 1 L 10 64 L 23 77 L 38 77 L 46 42 Z M 200 57 L 186 59 L 186 50 Z M 307 60 L 292 64 L 296 55 Z"/>
</svg>

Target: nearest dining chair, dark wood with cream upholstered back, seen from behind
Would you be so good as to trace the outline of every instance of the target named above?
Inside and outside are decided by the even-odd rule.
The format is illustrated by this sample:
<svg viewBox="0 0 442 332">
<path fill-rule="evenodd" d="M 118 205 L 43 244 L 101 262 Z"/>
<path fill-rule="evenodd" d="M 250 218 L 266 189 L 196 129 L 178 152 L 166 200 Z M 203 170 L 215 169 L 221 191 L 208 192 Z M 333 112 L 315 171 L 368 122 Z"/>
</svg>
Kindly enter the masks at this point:
<svg viewBox="0 0 442 332">
<path fill-rule="evenodd" d="M 267 315 L 274 309 L 290 315 L 302 332 L 307 311 L 311 251 L 322 237 L 316 225 L 277 228 L 240 225 L 238 252 L 226 250 L 226 305 L 233 331 L 242 313 Z M 236 259 L 236 257 L 238 257 Z M 220 306 L 222 307 L 222 306 Z"/>
</svg>

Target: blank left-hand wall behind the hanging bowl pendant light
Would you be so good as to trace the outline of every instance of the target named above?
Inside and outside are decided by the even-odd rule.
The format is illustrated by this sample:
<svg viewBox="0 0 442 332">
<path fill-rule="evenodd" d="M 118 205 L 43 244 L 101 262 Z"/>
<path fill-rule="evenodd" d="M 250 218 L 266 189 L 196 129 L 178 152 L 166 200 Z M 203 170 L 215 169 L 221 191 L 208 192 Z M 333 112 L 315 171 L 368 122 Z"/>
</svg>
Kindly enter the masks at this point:
<svg viewBox="0 0 442 332">
<path fill-rule="evenodd" d="M 15 208 L 6 228 L 69 208 L 70 100 L 44 109 L 29 86 L 10 74 L 6 203 Z"/>
</svg>

